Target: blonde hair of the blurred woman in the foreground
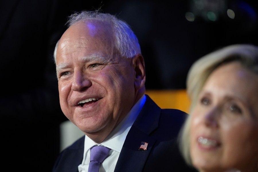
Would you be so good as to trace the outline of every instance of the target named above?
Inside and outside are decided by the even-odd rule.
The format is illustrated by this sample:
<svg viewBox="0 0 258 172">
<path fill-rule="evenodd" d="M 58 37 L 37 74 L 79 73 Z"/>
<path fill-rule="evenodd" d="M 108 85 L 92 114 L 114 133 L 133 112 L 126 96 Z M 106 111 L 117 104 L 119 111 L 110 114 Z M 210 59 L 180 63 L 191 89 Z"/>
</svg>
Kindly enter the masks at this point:
<svg viewBox="0 0 258 172">
<path fill-rule="evenodd" d="M 192 165 L 190 157 L 190 121 L 198 95 L 214 69 L 232 61 L 238 61 L 243 67 L 258 75 L 258 47 L 251 44 L 235 44 L 218 49 L 198 59 L 189 69 L 186 89 L 191 101 L 190 114 L 179 133 L 179 148 L 188 165 Z"/>
</svg>

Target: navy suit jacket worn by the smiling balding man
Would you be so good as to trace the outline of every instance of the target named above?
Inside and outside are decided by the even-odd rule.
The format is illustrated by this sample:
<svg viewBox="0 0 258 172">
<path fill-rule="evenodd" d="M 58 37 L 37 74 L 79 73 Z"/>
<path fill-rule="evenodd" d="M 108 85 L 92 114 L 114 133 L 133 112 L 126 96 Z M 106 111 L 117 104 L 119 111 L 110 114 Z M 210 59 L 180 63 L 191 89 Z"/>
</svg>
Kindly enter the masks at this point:
<svg viewBox="0 0 258 172">
<path fill-rule="evenodd" d="M 188 167 L 178 150 L 177 135 L 187 114 L 176 109 L 161 109 L 148 95 L 129 130 L 115 172 L 195 171 Z M 53 172 L 76 172 L 84 152 L 84 137 L 58 157 Z M 139 150 L 141 142 L 147 150 Z"/>
</svg>

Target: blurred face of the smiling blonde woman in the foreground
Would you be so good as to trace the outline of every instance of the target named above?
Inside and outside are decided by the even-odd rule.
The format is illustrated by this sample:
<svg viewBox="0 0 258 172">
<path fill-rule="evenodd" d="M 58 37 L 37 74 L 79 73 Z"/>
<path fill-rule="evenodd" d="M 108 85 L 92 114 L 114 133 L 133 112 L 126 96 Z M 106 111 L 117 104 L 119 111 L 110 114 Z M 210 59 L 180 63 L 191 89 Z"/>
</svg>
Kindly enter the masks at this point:
<svg viewBox="0 0 258 172">
<path fill-rule="evenodd" d="M 190 154 L 204 172 L 258 167 L 258 75 L 231 62 L 209 76 L 192 112 Z"/>
</svg>

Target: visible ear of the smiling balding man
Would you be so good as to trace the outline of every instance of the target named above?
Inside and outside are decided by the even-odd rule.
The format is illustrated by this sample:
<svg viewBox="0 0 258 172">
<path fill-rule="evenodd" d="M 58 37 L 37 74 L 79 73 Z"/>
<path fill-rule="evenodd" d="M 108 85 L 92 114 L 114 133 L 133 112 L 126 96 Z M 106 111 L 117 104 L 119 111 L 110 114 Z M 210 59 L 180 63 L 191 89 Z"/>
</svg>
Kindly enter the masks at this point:
<svg viewBox="0 0 258 172">
<path fill-rule="evenodd" d="M 140 89 L 144 87 L 146 76 L 145 76 L 145 63 L 142 54 L 137 53 L 133 57 L 133 66 L 135 72 L 134 87 Z"/>
</svg>

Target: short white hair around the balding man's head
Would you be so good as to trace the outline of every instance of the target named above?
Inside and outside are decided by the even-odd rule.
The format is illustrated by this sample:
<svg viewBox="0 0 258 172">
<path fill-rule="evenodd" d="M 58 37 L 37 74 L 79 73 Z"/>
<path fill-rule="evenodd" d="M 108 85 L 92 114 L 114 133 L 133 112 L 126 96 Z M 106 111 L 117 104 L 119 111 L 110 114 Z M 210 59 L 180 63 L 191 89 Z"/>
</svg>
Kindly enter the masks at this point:
<svg viewBox="0 0 258 172">
<path fill-rule="evenodd" d="M 67 25 L 71 27 L 79 21 L 99 20 L 110 24 L 113 32 L 114 44 L 121 56 L 132 58 L 136 53 L 141 53 L 138 38 L 131 27 L 115 15 L 102 13 L 101 10 L 75 12 L 68 17 Z M 54 50 L 54 62 L 56 63 L 56 50 L 59 41 Z"/>
</svg>

